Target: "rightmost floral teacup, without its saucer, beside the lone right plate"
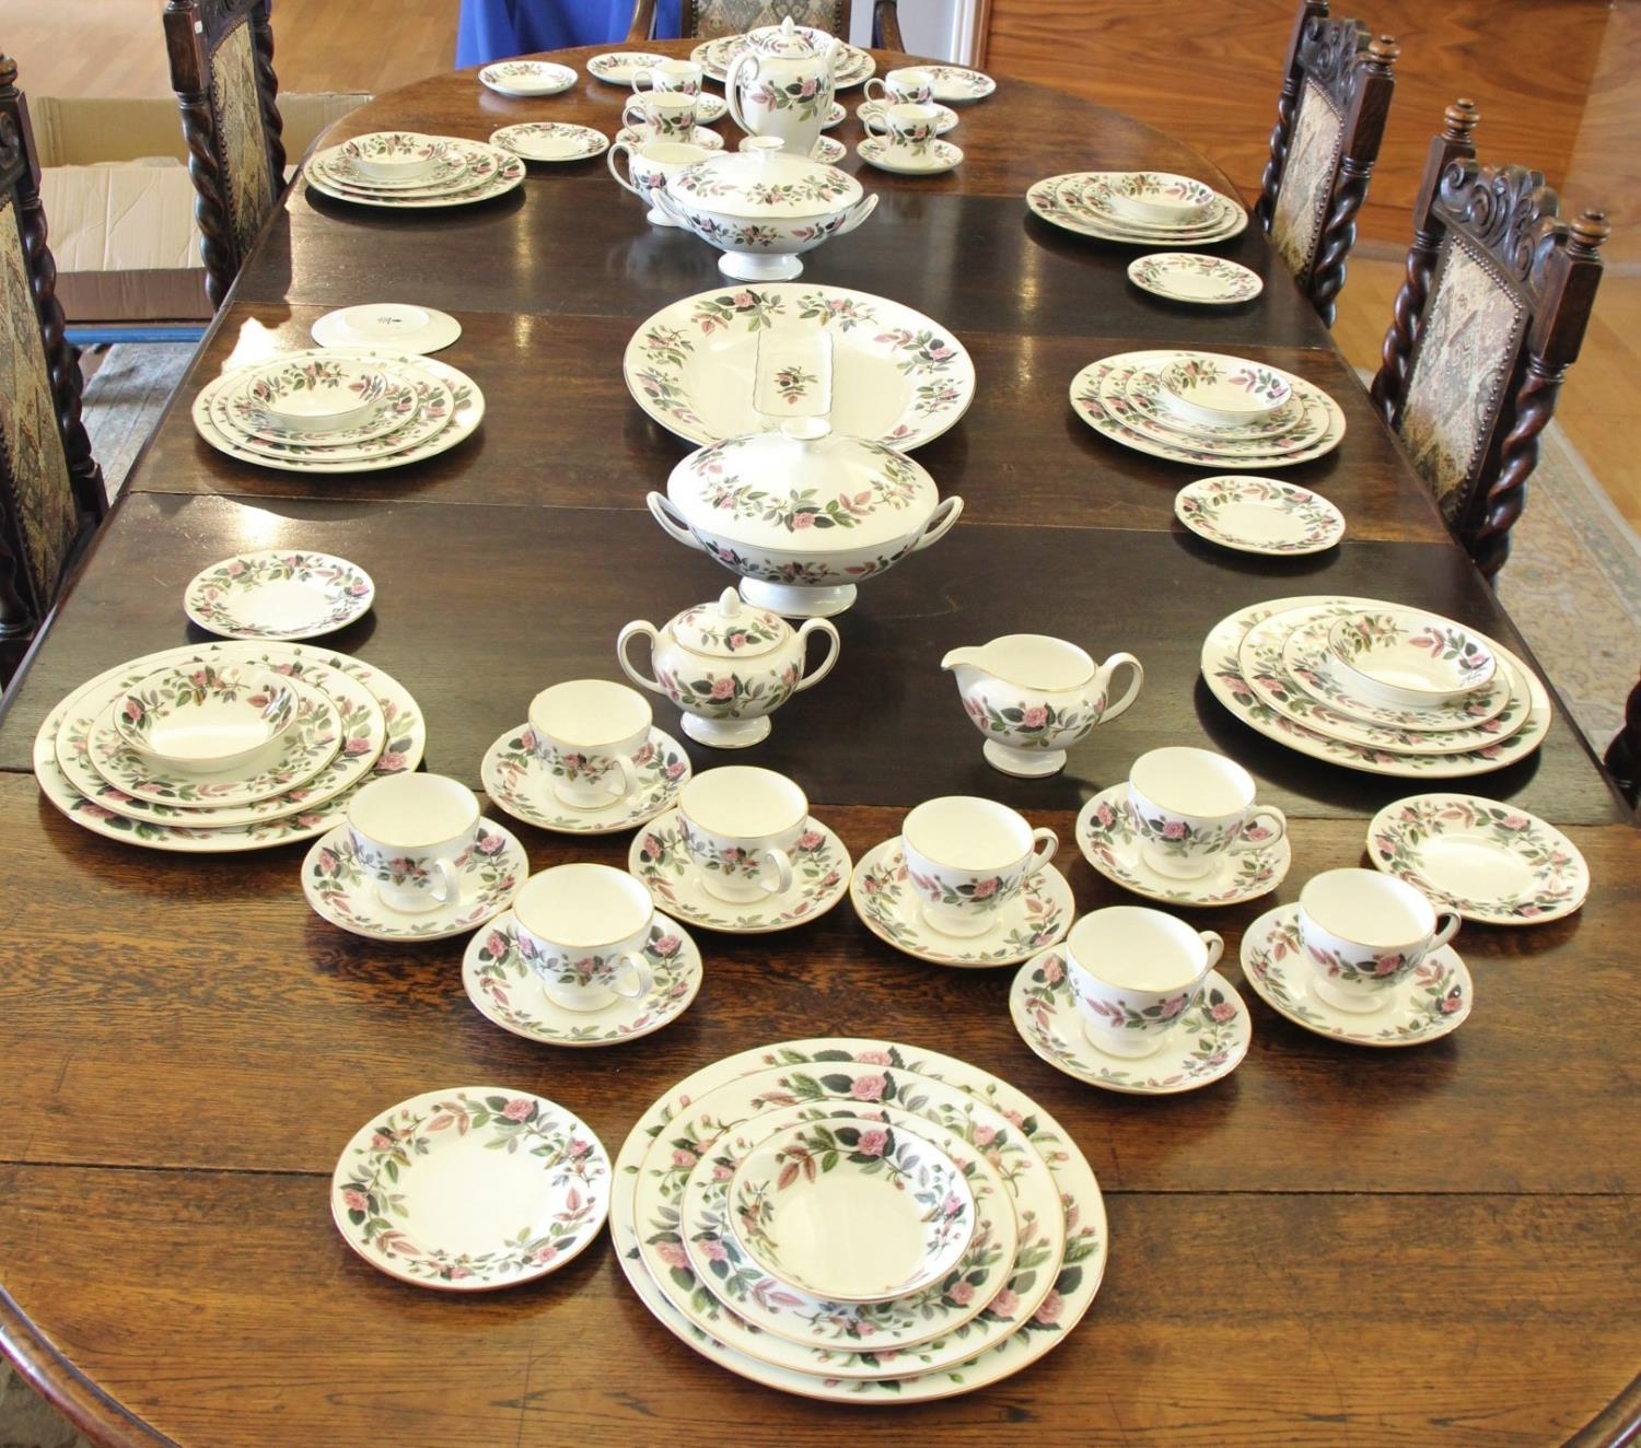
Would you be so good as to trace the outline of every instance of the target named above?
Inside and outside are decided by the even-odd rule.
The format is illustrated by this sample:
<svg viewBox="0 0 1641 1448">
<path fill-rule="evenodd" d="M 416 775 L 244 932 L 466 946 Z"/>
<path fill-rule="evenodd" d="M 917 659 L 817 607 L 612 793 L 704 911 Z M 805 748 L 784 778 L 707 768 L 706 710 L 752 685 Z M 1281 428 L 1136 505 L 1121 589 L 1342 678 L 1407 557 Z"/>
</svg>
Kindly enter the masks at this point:
<svg viewBox="0 0 1641 1448">
<path fill-rule="evenodd" d="M 1406 881 L 1377 869 L 1329 869 L 1300 890 L 1300 940 L 1318 997 L 1339 1010 L 1378 1010 L 1433 949 L 1459 933 Z"/>
</svg>

